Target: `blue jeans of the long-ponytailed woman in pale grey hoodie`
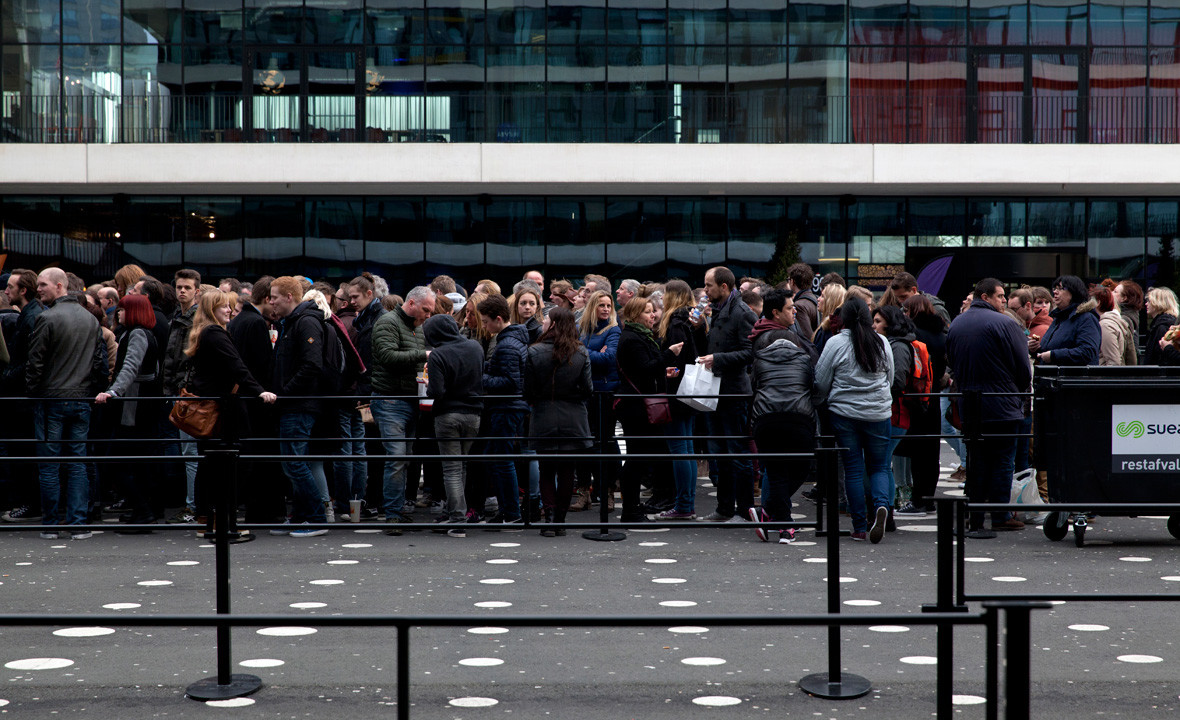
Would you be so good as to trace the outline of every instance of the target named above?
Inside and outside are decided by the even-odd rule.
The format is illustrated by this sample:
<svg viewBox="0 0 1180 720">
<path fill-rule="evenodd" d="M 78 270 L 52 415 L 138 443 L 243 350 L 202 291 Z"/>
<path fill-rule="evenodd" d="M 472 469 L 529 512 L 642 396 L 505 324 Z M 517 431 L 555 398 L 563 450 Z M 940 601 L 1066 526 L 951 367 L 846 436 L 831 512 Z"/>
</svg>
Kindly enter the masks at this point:
<svg viewBox="0 0 1180 720">
<path fill-rule="evenodd" d="M 848 515 L 852 516 L 852 531 L 867 530 L 865 521 L 865 474 L 868 476 L 868 489 L 873 498 L 873 508 L 891 508 L 893 496 L 893 472 L 889 463 L 891 425 L 884 420 L 857 420 L 832 413 L 832 432 L 835 441 L 846 450 L 840 452 L 844 459 L 844 486 L 848 493 Z"/>
</svg>

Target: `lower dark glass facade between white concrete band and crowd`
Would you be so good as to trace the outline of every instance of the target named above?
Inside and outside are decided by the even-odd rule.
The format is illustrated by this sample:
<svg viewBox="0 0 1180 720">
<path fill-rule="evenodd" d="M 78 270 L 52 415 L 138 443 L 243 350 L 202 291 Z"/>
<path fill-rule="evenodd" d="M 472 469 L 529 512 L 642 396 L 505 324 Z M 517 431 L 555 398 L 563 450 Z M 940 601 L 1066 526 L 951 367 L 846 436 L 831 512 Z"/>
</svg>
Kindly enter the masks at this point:
<svg viewBox="0 0 1180 720">
<path fill-rule="evenodd" d="M 721 263 L 765 277 L 784 251 L 880 286 L 950 255 L 952 300 L 985 275 L 1171 283 L 1178 211 L 1175 197 L 7 196 L 0 240 L 6 268 L 52 258 L 87 280 L 127 262 L 243 279 L 368 269 L 394 289 L 439 273 L 470 288 L 525 268 L 699 284 Z"/>
</svg>

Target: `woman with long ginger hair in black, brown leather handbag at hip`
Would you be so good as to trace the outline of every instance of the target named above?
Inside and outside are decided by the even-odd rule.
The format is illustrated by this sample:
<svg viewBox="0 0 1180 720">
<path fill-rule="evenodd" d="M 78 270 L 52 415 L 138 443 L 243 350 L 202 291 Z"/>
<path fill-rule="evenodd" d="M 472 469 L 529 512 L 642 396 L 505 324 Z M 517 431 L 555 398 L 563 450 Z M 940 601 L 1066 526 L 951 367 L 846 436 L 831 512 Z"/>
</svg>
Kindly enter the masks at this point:
<svg viewBox="0 0 1180 720">
<path fill-rule="evenodd" d="M 192 318 L 188 347 L 184 354 L 191 358 L 191 371 L 185 390 L 202 398 L 221 398 L 219 438 L 202 440 L 198 452 L 205 453 L 215 444 L 234 443 L 249 432 L 247 414 L 241 412 L 240 398 L 257 397 L 263 402 L 275 401 L 275 393 L 267 392 L 245 367 L 234 341 L 225 330 L 236 296 L 232 293 L 210 290 L 201 296 L 201 305 Z M 209 518 L 212 530 L 212 497 L 210 497 L 211 472 L 209 459 L 197 464 L 196 503 L 197 516 Z M 231 512 L 231 517 L 232 517 Z M 232 529 L 232 528 L 231 528 Z"/>
</svg>

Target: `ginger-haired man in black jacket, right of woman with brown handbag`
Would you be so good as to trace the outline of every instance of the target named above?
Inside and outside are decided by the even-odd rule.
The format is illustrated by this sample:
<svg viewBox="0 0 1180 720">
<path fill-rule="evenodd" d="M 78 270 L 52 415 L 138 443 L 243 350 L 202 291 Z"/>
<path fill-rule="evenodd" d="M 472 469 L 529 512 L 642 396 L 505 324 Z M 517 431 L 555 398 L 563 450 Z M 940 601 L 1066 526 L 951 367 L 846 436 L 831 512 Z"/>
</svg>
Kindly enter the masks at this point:
<svg viewBox="0 0 1180 720">
<path fill-rule="evenodd" d="M 278 341 L 275 343 L 275 372 L 273 388 L 278 394 L 280 452 L 295 458 L 283 462 L 283 472 L 291 480 L 294 504 L 291 524 L 327 522 L 323 502 L 320 498 L 312 467 L 307 460 L 297 459 L 308 454 L 312 428 L 321 404 L 308 395 L 320 394 L 323 380 L 323 314 L 310 301 L 301 302 L 303 287 L 289 275 L 270 283 L 270 305 L 278 322 Z M 284 397 L 296 397 L 284 400 Z M 271 530 L 271 534 L 281 531 Z M 300 528 L 291 537 L 326 535 L 323 529 Z"/>
</svg>

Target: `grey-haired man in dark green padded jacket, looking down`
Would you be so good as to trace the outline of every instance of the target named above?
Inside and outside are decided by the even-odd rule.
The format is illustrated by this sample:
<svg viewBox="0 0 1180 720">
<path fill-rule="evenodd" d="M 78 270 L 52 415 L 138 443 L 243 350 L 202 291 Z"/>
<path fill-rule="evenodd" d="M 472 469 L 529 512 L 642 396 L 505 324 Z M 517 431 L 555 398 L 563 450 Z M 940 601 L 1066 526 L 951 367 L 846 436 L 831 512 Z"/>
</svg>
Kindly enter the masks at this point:
<svg viewBox="0 0 1180 720">
<path fill-rule="evenodd" d="M 424 286 L 418 286 L 406 294 L 406 301 L 392 313 L 381 315 L 373 326 L 373 394 L 374 395 L 417 395 L 418 373 L 422 372 L 426 356 L 426 341 L 422 339 L 422 323 L 434 310 L 434 293 Z M 382 508 L 385 522 L 411 522 L 405 513 L 406 504 L 406 438 L 414 437 L 414 425 L 418 420 L 418 401 L 381 399 L 375 397 L 369 404 L 373 419 L 381 432 L 385 453 L 385 480 L 382 483 Z M 386 535 L 401 535 L 401 530 L 392 526 Z"/>
</svg>

